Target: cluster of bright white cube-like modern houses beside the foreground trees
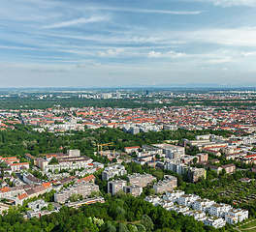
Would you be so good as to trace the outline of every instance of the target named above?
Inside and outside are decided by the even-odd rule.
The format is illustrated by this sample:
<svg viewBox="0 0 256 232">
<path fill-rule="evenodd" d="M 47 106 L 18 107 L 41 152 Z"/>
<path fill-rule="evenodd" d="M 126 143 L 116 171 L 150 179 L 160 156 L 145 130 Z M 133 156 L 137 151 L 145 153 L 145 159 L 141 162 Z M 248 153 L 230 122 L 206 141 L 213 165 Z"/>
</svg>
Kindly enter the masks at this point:
<svg viewBox="0 0 256 232">
<path fill-rule="evenodd" d="M 144 200 L 154 206 L 161 205 L 166 210 L 195 217 L 196 220 L 201 220 L 206 225 L 215 228 L 225 226 L 226 222 L 236 224 L 248 218 L 248 211 L 233 209 L 230 205 L 224 203 L 217 204 L 212 200 L 202 199 L 195 194 L 185 194 L 182 190 L 168 191 L 162 199 L 159 196 L 151 195 L 146 196 Z M 190 210 L 191 208 L 192 210 Z M 207 217 L 207 214 L 210 217 Z"/>
</svg>

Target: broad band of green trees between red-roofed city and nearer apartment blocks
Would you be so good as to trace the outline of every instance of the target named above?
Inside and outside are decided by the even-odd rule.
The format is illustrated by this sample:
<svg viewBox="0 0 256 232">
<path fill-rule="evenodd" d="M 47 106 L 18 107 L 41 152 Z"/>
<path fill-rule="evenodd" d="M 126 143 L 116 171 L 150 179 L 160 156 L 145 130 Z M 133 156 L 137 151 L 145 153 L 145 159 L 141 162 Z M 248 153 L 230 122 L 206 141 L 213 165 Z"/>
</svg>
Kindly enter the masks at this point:
<svg viewBox="0 0 256 232">
<path fill-rule="evenodd" d="M 29 153 L 37 157 L 39 154 L 66 153 L 69 149 L 80 149 L 81 154 L 94 160 L 107 162 L 104 158 L 94 156 L 97 151 L 97 144 L 112 142 L 113 146 L 103 147 L 124 151 L 125 147 L 142 146 L 143 144 L 160 143 L 164 140 L 178 140 L 182 138 L 194 139 L 197 134 L 214 133 L 227 135 L 229 131 L 187 131 L 179 129 L 177 131 L 148 131 L 136 135 L 124 133 L 123 131 L 101 128 L 97 130 L 72 131 L 74 135 L 54 135 L 52 132 L 37 132 L 31 126 L 16 125 L 15 130 L 0 131 L 0 153 L 2 156 L 17 156 L 24 158 L 24 154 Z"/>
</svg>

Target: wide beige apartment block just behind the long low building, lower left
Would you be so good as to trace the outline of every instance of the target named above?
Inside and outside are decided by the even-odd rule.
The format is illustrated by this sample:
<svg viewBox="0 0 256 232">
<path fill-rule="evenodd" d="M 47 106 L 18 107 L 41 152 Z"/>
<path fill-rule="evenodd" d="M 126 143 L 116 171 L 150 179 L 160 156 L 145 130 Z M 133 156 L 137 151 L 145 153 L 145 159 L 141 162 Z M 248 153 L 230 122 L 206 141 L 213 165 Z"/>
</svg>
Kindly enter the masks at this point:
<svg viewBox="0 0 256 232">
<path fill-rule="evenodd" d="M 99 191 L 99 186 L 92 183 L 74 185 L 70 188 L 66 188 L 54 193 L 54 201 L 64 204 L 69 200 L 73 193 L 81 194 L 83 197 L 87 197 L 92 191 Z"/>
</svg>

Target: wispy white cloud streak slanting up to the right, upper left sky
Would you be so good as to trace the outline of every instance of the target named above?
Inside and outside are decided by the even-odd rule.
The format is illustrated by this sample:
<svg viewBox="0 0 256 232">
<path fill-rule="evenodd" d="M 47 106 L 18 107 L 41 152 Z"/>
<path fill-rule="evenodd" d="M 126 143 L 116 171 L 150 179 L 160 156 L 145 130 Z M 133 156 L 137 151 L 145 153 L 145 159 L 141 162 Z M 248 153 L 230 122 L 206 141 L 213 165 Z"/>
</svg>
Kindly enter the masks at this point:
<svg viewBox="0 0 256 232">
<path fill-rule="evenodd" d="M 89 18 L 80 17 L 75 20 L 64 21 L 64 22 L 59 22 L 59 23 L 55 23 L 52 25 L 44 26 L 43 28 L 48 29 L 48 28 L 67 27 L 67 26 L 73 26 L 73 25 L 80 24 L 80 23 L 99 22 L 99 21 L 103 21 L 106 19 L 107 18 L 104 16 L 92 15 Z"/>
</svg>

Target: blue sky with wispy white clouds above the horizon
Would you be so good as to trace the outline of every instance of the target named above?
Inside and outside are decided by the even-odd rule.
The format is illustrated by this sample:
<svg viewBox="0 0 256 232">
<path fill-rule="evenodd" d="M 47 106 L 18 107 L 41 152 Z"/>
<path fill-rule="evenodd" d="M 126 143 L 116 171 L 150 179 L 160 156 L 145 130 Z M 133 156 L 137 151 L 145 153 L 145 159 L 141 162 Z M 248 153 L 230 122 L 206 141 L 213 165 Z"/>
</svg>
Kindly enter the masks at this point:
<svg viewBox="0 0 256 232">
<path fill-rule="evenodd" d="M 256 0 L 1 0 L 0 87 L 252 86 L 255 12 Z"/>
</svg>

